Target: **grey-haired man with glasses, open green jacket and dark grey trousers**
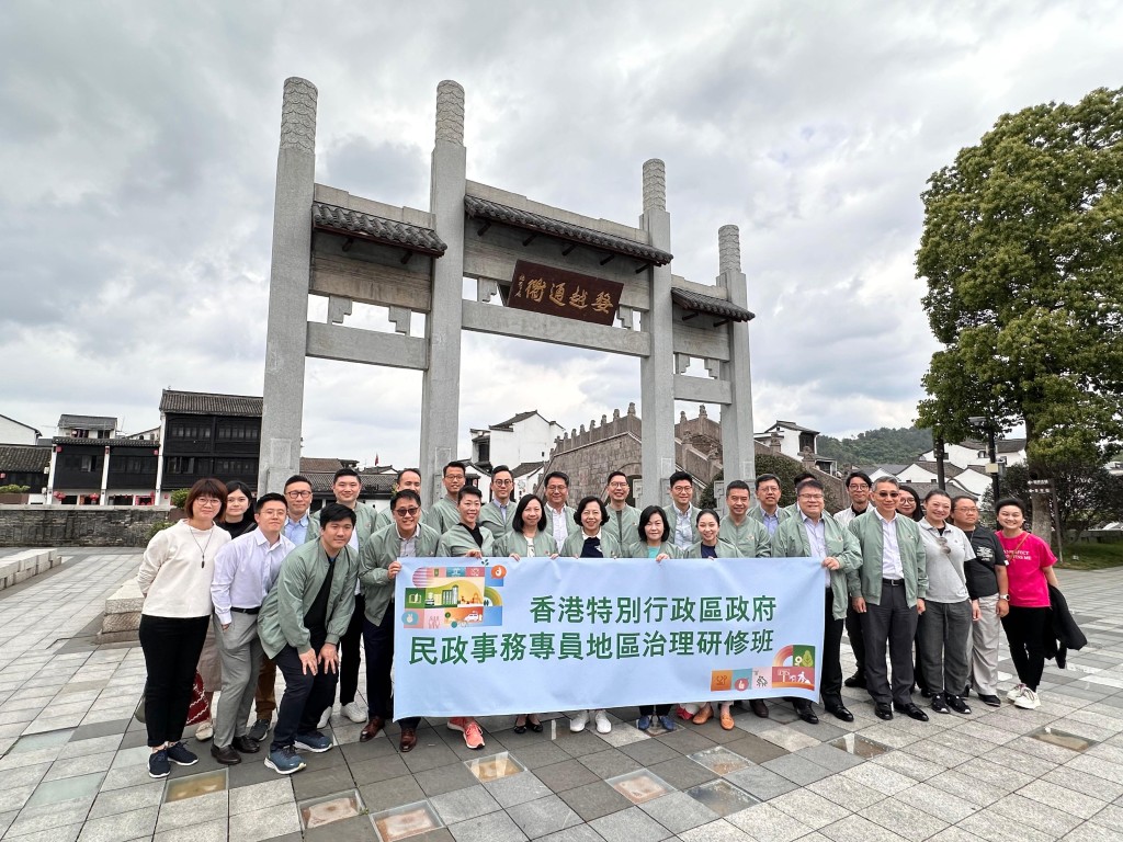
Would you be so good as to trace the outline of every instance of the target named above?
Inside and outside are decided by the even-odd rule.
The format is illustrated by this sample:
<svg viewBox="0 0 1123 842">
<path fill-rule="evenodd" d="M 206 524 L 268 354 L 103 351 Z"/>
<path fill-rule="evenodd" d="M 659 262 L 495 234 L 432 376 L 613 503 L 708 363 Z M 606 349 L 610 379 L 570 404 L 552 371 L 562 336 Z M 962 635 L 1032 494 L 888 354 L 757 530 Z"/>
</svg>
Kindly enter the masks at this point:
<svg viewBox="0 0 1123 842">
<path fill-rule="evenodd" d="M 850 573 L 848 584 L 851 604 L 861 615 L 866 686 L 874 697 L 874 713 L 879 720 L 892 720 L 896 710 L 928 722 L 928 714 L 913 703 L 910 693 L 913 639 L 916 619 L 924 613 L 928 569 L 915 521 L 897 516 L 900 496 L 896 477 L 880 477 L 874 483 L 874 510 L 850 522 L 849 530 L 861 548 L 861 567 Z M 885 666 L 886 644 L 893 668 L 892 690 Z"/>
</svg>

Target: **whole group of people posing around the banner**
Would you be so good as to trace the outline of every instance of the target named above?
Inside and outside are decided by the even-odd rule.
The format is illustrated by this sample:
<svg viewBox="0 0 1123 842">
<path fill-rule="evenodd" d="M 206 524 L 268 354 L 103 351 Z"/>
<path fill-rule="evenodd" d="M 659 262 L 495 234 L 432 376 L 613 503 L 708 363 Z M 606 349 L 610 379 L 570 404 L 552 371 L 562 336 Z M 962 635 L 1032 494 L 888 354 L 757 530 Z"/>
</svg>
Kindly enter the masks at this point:
<svg viewBox="0 0 1123 842">
<path fill-rule="evenodd" d="M 171 763 L 198 760 L 183 731 L 208 626 L 221 663 L 211 745 L 219 762 L 235 765 L 258 753 L 276 711 L 265 763 L 282 775 L 304 768 L 300 752 L 332 745 L 323 730 L 337 687 L 341 713 L 363 723 L 362 742 L 394 722 L 394 584 L 401 559 L 410 557 L 562 555 L 656 562 L 810 557 L 823 567 L 821 698 L 828 713 L 853 720 L 843 684 L 867 688 L 883 720 L 894 711 L 928 719 L 913 702 L 914 681 L 937 713 L 969 713 L 971 688 L 985 704 L 1001 704 L 999 623 L 1021 681 L 1007 698 L 1019 707 L 1039 704 L 1040 632 L 1049 614 L 1047 584 L 1056 584 L 1056 576 L 1048 544 L 1022 529 L 1020 501 L 999 501 L 996 536 L 978 525 L 970 497 L 933 491 L 921 505 L 895 478 L 870 482 L 861 472 L 846 481 L 850 506 L 833 515 L 824 511 L 824 487 L 814 475 L 796 478 L 795 502 L 787 506 L 780 506 L 783 488 L 774 475 L 757 477 L 755 488 L 732 481 L 724 518 L 694 505 L 695 484 L 685 472 L 670 476 L 670 506 L 642 511 L 628 504 L 631 488 L 622 472 L 608 477 L 603 497 L 586 496 L 576 506 L 569 505 L 569 478 L 560 472 L 546 476 L 542 496 L 515 501 L 511 472 L 497 466 L 486 503 L 483 492 L 467 484 L 463 463 L 446 465 L 441 479 L 444 496 L 426 510 L 420 472 L 400 472 L 389 513 L 358 503 L 362 481 L 351 468 L 336 473 L 335 500 L 316 514 L 311 483 L 299 475 L 283 494 L 256 501 L 248 488 L 235 487 L 240 484 L 228 488 L 202 479 L 192 486 L 185 518 L 153 538 L 138 574 L 145 594 L 140 643 L 148 670 L 149 775 L 165 777 Z M 250 505 L 252 515 L 230 513 Z M 858 662 L 844 683 L 843 628 Z M 366 706 L 357 697 L 362 661 Z M 285 684 L 280 705 L 279 670 Z M 769 715 L 763 698 L 746 701 L 756 715 Z M 709 702 L 684 702 L 677 714 L 703 724 L 716 713 L 722 727 L 732 729 L 732 704 L 721 702 L 715 712 Z M 818 723 L 811 702 L 792 704 L 802 720 Z M 674 730 L 674 707 L 641 706 L 637 724 L 647 730 L 658 721 Z M 611 730 L 603 708 L 573 713 L 569 727 L 582 731 L 591 721 L 601 733 Z M 396 722 L 399 749 L 408 752 L 419 720 Z M 463 733 L 467 747 L 484 745 L 473 716 L 454 716 L 447 724 Z M 538 714 L 515 719 L 515 733 L 528 729 L 541 731 Z"/>
</svg>

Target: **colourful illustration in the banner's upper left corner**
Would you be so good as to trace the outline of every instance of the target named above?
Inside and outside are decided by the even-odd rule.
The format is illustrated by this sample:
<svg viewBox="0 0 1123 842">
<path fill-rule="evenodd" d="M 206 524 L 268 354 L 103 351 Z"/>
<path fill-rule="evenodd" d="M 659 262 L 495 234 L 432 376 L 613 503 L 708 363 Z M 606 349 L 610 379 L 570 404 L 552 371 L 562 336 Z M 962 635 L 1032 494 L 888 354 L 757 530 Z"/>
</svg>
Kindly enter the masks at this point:
<svg viewBox="0 0 1123 842">
<path fill-rule="evenodd" d="M 405 588 L 403 629 L 459 629 L 501 626 L 506 568 L 419 567 Z"/>
</svg>

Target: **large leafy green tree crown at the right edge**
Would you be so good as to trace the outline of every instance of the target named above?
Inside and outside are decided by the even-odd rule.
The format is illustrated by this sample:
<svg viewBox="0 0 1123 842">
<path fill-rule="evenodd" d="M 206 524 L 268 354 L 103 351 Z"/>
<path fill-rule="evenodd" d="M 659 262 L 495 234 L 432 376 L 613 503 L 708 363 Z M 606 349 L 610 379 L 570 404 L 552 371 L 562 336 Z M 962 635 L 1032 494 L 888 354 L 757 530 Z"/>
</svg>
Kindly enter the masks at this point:
<svg viewBox="0 0 1123 842">
<path fill-rule="evenodd" d="M 916 271 L 944 348 L 920 425 L 955 441 L 984 432 L 973 415 L 1024 423 L 1042 476 L 1102 463 L 1123 442 L 1123 89 L 1003 116 L 923 201 Z"/>
</svg>

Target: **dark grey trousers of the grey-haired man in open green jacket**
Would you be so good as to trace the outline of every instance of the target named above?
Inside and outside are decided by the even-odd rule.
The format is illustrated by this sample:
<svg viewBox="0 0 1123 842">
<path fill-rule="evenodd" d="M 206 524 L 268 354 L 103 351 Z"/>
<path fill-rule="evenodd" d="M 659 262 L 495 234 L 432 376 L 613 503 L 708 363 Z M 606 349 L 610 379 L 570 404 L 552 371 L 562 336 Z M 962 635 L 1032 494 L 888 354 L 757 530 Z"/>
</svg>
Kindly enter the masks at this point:
<svg viewBox="0 0 1123 842">
<path fill-rule="evenodd" d="M 887 705 L 912 704 L 910 688 L 913 679 L 912 643 L 916 637 L 916 607 L 905 600 L 903 584 L 882 583 L 882 602 L 866 602 L 862 614 L 862 633 L 866 637 L 866 689 L 874 702 Z M 885 647 L 889 648 L 893 667 L 893 688 L 885 666 Z"/>
</svg>

